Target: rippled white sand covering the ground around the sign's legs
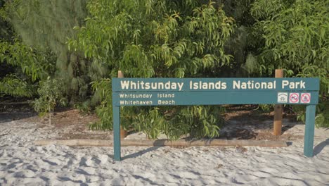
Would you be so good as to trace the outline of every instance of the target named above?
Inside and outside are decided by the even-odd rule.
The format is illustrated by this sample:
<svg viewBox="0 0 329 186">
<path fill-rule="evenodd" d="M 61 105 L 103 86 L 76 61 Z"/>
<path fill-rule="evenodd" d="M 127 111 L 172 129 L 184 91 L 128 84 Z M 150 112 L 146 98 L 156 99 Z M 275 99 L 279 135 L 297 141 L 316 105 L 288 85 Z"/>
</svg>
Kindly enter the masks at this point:
<svg viewBox="0 0 329 186">
<path fill-rule="evenodd" d="M 304 125 L 286 132 L 304 135 Z M 0 122 L 0 185 L 329 185 L 329 130 L 316 129 L 314 158 L 303 140 L 284 148 L 36 147 L 56 137 L 25 120 Z M 245 151 L 247 150 L 247 151 Z"/>
</svg>

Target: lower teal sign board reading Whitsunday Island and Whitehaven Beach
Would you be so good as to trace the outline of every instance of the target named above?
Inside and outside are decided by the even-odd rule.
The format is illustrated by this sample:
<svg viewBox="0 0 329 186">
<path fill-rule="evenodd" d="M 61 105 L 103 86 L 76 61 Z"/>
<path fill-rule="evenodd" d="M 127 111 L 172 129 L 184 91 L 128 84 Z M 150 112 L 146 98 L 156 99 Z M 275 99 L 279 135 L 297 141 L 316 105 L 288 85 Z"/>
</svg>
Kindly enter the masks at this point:
<svg viewBox="0 0 329 186">
<path fill-rule="evenodd" d="M 113 92 L 112 97 L 116 106 L 318 103 L 318 92 L 309 92 L 308 101 L 300 102 L 299 94 L 290 93 L 289 101 L 288 93 L 277 92 Z"/>
</svg>

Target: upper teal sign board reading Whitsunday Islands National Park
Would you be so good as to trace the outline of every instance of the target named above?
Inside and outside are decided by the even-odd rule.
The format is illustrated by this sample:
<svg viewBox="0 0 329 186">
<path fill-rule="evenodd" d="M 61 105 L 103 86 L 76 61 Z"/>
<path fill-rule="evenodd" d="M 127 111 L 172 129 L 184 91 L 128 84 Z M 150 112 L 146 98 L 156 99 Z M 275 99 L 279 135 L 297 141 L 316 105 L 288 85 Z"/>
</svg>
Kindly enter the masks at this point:
<svg viewBox="0 0 329 186">
<path fill-rule="evenodd" d="M 318 89 L 318 78 L 112 78 L 113 92 L 265 92 Z"/>
</svg>

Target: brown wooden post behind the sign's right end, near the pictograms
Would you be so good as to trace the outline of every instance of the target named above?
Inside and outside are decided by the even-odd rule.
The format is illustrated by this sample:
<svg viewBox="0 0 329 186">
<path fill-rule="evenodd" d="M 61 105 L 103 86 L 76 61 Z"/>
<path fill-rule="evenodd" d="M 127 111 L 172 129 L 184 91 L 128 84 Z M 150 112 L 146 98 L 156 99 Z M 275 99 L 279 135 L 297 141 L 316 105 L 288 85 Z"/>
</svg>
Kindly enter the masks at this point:
<svg viewBox="0 0 329 186">
<path fill-rule="evenodd" d="M 283 69 L 276 69 L 276 77 L 283 77 Z M 274 106 L 274 122 L 273 122 L 273 135 L 281 135 L 282 130 L 282 105 L 276 104 Z"/>
</svg>

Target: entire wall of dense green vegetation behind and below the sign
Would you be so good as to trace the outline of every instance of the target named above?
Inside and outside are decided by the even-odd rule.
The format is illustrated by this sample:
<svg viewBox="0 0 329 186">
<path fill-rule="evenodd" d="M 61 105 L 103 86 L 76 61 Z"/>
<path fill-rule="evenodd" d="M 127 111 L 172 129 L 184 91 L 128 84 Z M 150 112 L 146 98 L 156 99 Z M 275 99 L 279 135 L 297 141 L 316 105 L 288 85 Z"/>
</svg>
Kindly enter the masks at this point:
<svg viewBox="0 0 329 186">
<path fill-rule="evenodd" d="M 329 126 L 328 0 L 0 0 L 0 95 L 96 111 L 112 128 L 111 77 L 320 77 Z M 266 107 L 266 106 L 265 106 Z M 265 108 L 264 107 L 264 108 Z M 267 106 L 268 107 L 268 106 Z M 292 107 L 304 119 L 304 106 Z M 124 107 L 123 126 L 215 137 L 221 106 Z"/>
</svg>

